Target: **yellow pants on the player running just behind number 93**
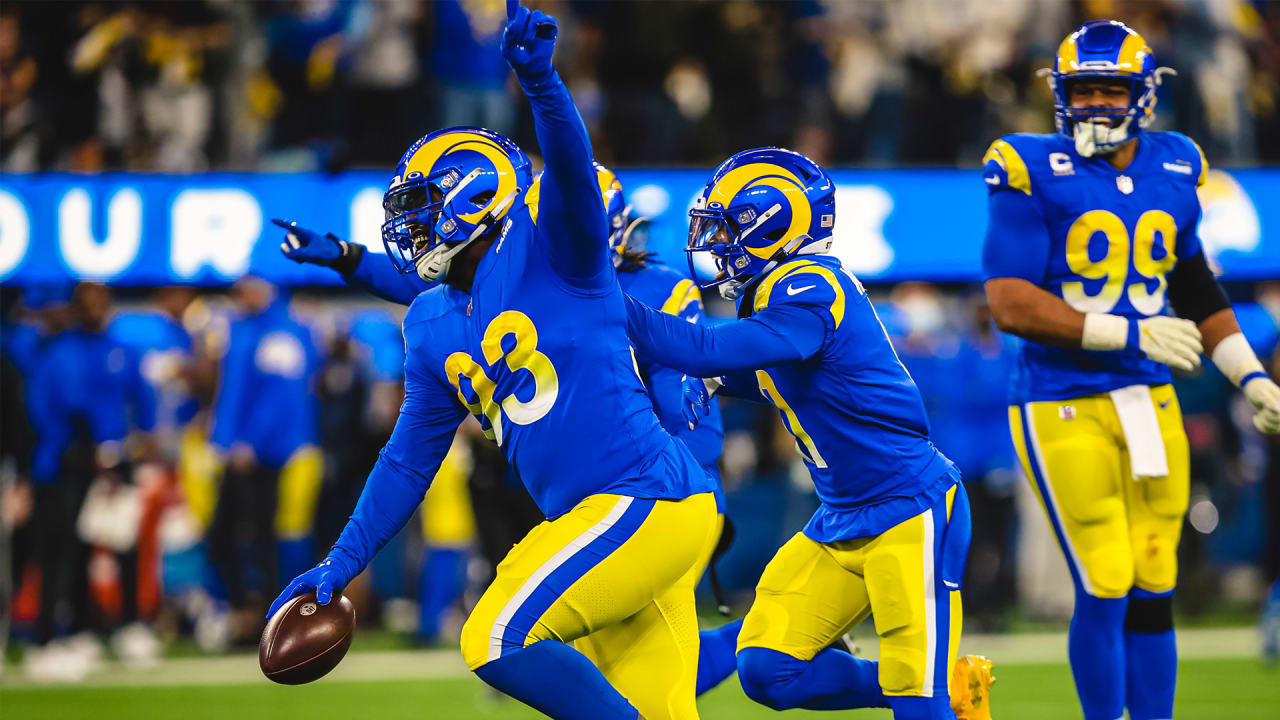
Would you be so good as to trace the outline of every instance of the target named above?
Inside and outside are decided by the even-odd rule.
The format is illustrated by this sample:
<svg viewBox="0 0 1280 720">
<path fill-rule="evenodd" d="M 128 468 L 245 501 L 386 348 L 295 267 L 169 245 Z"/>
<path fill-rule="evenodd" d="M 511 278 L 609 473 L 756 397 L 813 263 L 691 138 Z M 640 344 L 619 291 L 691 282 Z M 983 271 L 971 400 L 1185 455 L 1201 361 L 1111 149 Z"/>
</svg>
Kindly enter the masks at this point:
<svg viewBox="0 0 1280 720">
<path fill-rule="evenodd" d="M 884 694 L 945 696 L 961 626 L 960 592 L 934 571 L 945 527 L 931 510 L 868 538 L 819 543 L 796 533 L 760 577 L 739 652 L 763 647 L 809 661 L 872 615 Z"/>
</svg>

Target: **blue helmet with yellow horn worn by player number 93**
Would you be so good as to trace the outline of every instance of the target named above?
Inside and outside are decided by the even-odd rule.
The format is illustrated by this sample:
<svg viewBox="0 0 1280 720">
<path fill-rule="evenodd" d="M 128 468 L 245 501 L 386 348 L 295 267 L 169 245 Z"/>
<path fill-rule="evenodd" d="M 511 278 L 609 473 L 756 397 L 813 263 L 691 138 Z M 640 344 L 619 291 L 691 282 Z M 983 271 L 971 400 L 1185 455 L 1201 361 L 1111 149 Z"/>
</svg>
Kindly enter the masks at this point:
<svg viewBox="0 0 1280 720">
<path fill-rule="evenodd" d="M 484 128 L 435 131 L 404 151 L 383 195 L 383 245 L 402 273 L 444 277 L 453 256 L 495 227 L 532 183 L 529 158 Z"/>
</svg>

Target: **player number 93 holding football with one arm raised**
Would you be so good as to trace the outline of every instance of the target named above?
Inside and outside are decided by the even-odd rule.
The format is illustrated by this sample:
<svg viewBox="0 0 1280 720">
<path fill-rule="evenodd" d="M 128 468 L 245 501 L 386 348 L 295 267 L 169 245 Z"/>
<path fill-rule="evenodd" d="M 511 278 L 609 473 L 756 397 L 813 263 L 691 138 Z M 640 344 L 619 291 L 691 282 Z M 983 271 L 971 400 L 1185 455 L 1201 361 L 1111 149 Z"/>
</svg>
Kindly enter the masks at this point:
<svg viewBox="0 0 1280 720">
<path fill-rule="evenodd" d="M 557 26 L 508 0 L 507 58 L 547 167 L 477 128 L 428 135 L 384 197 L 406 273 L 444 283 L 404 318 L 406 397 L 328 559 L 285 600 L 328 602 L 410 518 L 470 411 L 548 520 L 498 568 L 462 629 L 467 666 L 558 719 L 696 717 L 694 583 L 714 483 L 662 429 L 635 369 L 586 128 L 552 65 Z M 595 633 L 596 669 L 573 641 Z M 612 683 L 612 684 L 611 684 Z"/>
</svg>

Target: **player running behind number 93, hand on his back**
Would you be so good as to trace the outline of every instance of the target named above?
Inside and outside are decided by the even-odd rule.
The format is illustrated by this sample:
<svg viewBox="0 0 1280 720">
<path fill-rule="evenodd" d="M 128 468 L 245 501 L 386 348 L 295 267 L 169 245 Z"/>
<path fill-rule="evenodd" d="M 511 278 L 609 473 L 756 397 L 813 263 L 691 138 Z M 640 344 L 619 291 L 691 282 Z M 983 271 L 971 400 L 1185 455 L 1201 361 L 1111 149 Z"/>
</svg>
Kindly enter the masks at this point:
<svg viewBox="0 0 1280 720">
<path fill-rule="evenodd" d="M 863 286 L 824 255 L 835 190 L 790 150 L 726 160 L 689 213 L 689 255 L 710 256 L 718 274 L 703 287 L 736 299 L 740 319 L 701 327 L 628 299 L 631 337 L 643 355 L 777 406 L 822 501 L 756 587 L 737 641 L 746 694 L 776 710 L 987 717 L 991 664 L 955 662 L 964 486 Z M 879 662 L 828 647 L 868 615 Z"/>
</svg>

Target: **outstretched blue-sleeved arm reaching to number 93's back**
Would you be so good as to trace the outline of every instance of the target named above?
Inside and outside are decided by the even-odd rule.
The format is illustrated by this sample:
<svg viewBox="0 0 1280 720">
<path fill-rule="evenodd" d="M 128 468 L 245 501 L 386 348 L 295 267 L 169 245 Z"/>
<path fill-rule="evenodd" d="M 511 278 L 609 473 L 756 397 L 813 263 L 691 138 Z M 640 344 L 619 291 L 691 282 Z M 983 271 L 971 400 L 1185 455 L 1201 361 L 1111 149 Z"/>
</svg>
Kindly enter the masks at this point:
<svg viewBox="0 0 1280 720">
<path fill-rule="evenodd" d="M 826 340 L 820 315 L 780 305 L 745 320 L 703 327 L 627 297 L 627 334 L 636 350 L 695 378 L 771 368 L 812 357 Z"/>
</svg>

